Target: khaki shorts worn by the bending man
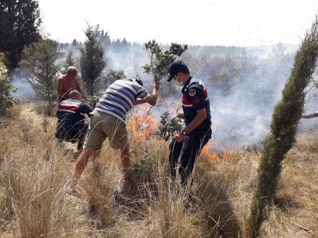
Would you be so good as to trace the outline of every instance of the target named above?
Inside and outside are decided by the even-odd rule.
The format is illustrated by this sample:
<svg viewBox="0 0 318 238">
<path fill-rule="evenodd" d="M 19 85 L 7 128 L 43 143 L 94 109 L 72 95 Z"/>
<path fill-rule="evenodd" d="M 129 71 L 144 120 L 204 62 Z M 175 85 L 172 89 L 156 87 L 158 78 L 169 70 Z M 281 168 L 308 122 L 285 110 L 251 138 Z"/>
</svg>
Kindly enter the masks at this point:
<svg viewBox="0 0 318 238">
<path fill-rule="evenodd" d="M 128 144 L 126 124 L 107 113 L 93 111 L 84 148 L 100 149 L 107 137 L 110 146 L 114 149 L 120 149 Z"/>
</svg>

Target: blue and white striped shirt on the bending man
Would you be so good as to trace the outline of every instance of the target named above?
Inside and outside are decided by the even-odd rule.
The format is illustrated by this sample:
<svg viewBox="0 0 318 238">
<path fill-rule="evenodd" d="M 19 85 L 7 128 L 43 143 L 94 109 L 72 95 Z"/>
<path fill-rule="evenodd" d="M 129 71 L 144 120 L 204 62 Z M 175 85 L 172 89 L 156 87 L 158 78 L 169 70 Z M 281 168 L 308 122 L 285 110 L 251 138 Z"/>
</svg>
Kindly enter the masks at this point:
<svg viewBox="0 0 318 238">
<path fill-rule="evenodd" d="M 146 90 L 135 81 L 131 79 L 116 80 L 97 102 L 95 110 L 124 121 L 136 99 L 146 99 L 148 96 Z"/>
</svg>

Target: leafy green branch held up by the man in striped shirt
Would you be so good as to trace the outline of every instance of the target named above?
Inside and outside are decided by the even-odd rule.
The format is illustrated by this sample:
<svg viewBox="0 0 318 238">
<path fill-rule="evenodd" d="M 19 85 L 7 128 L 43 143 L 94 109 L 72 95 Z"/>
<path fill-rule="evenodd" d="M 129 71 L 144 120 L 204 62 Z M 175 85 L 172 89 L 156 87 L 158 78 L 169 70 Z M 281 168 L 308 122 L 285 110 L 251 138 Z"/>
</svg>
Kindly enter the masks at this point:
<svg viewBox="0 0 318 238">
<path fill-rule="evenodd" d="M 159 83 L 163 77 L 169 74 L 168 66 L 180 57 L 187 48 L 187 45 L 182 47 L 181 44 L 172 43 L 169 50 L 162 52 L 156 40 L 150 40 L 145 43 L 144 47 L 150 56 L 150 64 L 142 66 L 144 73 L 151 74 L 154 77 L 154 82 Z"/>
</svg>

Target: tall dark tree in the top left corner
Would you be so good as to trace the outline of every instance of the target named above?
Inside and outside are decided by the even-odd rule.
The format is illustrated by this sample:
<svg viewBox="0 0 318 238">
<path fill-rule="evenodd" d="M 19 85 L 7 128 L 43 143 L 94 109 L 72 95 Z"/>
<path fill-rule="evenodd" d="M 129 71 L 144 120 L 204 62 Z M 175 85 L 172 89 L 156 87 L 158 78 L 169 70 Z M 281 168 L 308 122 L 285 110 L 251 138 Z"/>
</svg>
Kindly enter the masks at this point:
<svg viewBox="0 0 318 238">
<path fill-rule="evenodd" d="M 42 18 L 37 0 L 5 0 L 0 6 L 0 52 L 5 52 L 5 65 L 11 72 L 24 46 L 41 39 Z"/>
</svg>

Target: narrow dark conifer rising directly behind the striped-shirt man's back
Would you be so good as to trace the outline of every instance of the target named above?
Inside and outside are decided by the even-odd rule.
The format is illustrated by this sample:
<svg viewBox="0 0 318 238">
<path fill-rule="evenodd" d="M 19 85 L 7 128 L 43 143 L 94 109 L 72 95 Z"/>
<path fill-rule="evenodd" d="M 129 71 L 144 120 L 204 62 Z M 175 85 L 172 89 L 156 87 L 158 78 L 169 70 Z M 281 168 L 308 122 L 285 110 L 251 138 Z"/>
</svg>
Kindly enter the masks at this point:
<svg viewBox="0 0 318 238">
<path fill-rule="evenodd" d="M 85 31 L 86 41 L 84 42 L 84 47 L 80 48 L 80 72 L 90 96 L 98 92 L 102 72 L 107 65 L 104 60 L 102 43 L 97 39 L 97 27 L 93 29 L 88 24 Z"/>
</svg>

